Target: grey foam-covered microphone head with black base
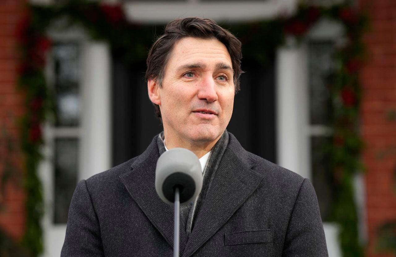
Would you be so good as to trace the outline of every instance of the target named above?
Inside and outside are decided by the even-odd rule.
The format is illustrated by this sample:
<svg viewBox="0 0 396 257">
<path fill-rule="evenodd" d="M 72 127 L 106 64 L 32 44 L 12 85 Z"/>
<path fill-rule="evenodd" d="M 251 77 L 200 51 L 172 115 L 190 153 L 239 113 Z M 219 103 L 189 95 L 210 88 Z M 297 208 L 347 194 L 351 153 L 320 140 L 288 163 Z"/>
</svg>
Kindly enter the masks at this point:
<svg viewBox="0 0 396 257">
<path fill-rule="evenodd" d="M 198 157 L 185 148 L 173 148 L 161 154 L 155 170 L 155 189 L 169 205 L 175 202 L 179 188 L 180 204 L 193 201 L 202 189 L 202 169 Z"/>
</svg>

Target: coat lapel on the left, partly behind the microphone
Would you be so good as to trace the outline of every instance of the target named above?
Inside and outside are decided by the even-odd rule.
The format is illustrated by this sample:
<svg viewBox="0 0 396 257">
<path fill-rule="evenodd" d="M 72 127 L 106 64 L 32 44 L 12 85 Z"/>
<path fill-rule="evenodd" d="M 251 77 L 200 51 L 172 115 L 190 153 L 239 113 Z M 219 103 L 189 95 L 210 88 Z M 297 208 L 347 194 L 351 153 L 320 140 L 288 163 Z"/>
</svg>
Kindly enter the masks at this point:
<svg viewBox="0 0 396 257">
<path fill-rule="evenodd" d="M 155 190 L 155 168 L 159 158 L 156 137 L 147 150 L 120 176 L 129 194 L 147 218 L 173 247 L 173 206 L 164 203 Z M 181 237 L 181 240 L 185 238 Z M 180 244 L 185 244 L 181 241 Z"/>
</svg>

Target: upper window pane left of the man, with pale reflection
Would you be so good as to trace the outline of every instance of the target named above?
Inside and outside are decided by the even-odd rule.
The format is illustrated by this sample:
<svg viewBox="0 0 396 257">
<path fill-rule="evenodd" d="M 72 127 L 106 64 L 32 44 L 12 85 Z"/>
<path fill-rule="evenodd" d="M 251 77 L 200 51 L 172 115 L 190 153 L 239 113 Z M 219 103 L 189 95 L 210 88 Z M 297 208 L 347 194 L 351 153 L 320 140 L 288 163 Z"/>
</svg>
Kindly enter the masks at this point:
<svg viewBox="0 0 396 257">
<path fill-rule="evenodd" d="M 78 126 L 80 121 L 79 47 L 59 43 L 53 47 L 55 63 L 56 126 Z"/>
</svg>

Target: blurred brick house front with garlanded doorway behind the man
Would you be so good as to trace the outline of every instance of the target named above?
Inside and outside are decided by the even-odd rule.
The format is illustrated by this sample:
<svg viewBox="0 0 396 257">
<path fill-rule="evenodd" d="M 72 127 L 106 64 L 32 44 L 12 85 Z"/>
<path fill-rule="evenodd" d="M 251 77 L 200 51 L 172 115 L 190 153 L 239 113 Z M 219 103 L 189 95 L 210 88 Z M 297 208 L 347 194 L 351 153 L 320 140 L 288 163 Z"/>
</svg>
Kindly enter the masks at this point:
<svg viewBox="0 0 396 257">
<path fill-rule="evenodd" d="M 77 182 L 162 131 L 145 58 L 191 16 L 242 41 L 227 129 L 312 181 L 329 256 L 395 255 L 394 0 L 0 1 L 0 255 L 59 256 Z"/>
</svg>

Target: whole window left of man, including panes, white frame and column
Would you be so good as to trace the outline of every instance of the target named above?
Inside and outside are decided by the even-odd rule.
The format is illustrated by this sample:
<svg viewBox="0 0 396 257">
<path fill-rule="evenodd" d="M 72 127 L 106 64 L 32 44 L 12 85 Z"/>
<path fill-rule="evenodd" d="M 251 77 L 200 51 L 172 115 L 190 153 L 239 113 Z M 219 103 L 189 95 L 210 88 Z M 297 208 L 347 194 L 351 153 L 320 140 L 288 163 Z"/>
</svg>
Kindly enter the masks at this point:
<svg viewBox="0 0 396 257">
<path fill-rule="evenodd" d="M 46 124 L 40 164 L 46 211 L 43 257 L 59 256 L 79 180 L 110 167 L 110 49 L 78 28 L 51 30 L 46 76 L 55 117 Z"/>
</svg>

